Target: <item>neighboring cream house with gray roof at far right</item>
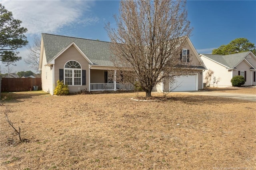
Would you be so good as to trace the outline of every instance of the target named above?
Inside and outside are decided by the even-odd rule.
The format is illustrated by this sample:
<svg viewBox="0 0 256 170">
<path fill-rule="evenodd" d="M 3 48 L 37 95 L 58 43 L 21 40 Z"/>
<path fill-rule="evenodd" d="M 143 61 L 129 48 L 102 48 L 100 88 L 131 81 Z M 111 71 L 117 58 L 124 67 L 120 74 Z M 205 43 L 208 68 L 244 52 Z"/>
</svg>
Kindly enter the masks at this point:
<svg viewBox="0 0 256 170">
<path fill-rule="evenodd" d="M 210 87 L 230 87 L 230 80 L 235 75 L 242 75 L 244 85 L 256 85 L 256 57 L 251 51 L 230 55 L 200 54 L 206 67 L 213 71 L 207 77 L 208 71 L 204 71 L 204 83 L 208 78 Z"/>
</svg>

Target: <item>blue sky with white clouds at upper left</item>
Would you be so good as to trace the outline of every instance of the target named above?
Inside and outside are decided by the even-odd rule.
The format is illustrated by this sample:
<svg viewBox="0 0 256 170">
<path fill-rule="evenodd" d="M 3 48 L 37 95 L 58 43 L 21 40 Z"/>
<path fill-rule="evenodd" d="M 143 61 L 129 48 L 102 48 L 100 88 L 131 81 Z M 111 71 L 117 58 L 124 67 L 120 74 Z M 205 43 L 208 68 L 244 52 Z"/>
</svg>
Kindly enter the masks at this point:
<svg viewBox="0 0 256 170">
<path fill-rule="evenodd" d="M 26 36 L 30 43 L 33 36 L 41 33 L 109 41 L 104 26 L 107 22 L 115 26 L 113 15 L 118 14 L 119 8 L 117 0 L 1 0 L 1 3 L 28 28 Z M 256 44 L 256 1 L 189 0 L 186 8 L 190 26 L 194 28 L 190 40 L 198 53 L 211 53 L 236 38 L 247 38 Z M 26 47 L 19 51 L 22 58 L 27 57 Z M 16 64 L 13 72 L 31 70 L 23 60 Z"/>
</svg>

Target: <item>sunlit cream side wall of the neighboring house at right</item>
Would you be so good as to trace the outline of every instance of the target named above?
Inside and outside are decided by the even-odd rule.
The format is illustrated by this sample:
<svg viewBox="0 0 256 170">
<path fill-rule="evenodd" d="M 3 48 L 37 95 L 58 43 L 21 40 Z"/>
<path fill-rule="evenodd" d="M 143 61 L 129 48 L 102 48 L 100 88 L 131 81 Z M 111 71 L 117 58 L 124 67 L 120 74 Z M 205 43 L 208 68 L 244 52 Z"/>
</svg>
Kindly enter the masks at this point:
<svg viewBox="0 0 256 170">
<path fill-rule="evenodd" d="M 230 80 L 232 79 L 232 71 L 226 69 L 223 65 L 220 65 L 210 59 L 207 59 L 206 57 L 201 57 L 202 61 L 204 62 L 204 65 L 206 65 L 206 68 L 208 70 L 214 71 L 212 75 L 212 79 L 210 81 L 210 87 L 230 87 L 232 86 Z M 203 72 L 204 77 L 206 76 L 206 73 L 208 70 L 205 70 Z M 213 77 L 215 77 L 215 82 L 213 83 Z M 205 79 L 203 80 L 204 83 Z M 199 86 L 198 86 L 199 87 Z"/>
</svg>

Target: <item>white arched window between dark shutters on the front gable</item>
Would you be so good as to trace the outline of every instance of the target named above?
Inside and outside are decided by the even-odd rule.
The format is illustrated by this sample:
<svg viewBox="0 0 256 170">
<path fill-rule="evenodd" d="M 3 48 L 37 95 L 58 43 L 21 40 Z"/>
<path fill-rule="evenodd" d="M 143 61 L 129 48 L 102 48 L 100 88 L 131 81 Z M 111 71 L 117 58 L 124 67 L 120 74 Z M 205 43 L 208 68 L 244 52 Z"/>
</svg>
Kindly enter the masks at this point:
<svg viewBox="0 0 256 170">
<path fill-rule="evenodd" d="M 82 85 L 82 67 L 77 61 L 68 61 L 64 67 L 66 85 Z"/>
</svg>

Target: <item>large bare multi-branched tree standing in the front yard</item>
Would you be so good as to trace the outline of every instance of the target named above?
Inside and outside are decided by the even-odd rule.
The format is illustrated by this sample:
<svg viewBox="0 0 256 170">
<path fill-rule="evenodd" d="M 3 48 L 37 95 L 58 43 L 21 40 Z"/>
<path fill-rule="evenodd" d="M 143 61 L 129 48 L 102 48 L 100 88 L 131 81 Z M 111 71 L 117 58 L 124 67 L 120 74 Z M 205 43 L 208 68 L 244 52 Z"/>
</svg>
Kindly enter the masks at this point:
<svg viewBox="0 0 256 170">
<path fill-rule="evenodd" d="M 180 61 L 180 52 L 192 29 L 187 20 L 186 2 L 177 0 L 124 0 L 119 16 L 114 16 L 117 29 L 105 29 L 111 40 L 115 69 L 129 71 L 146 97 L 164 80 L 187 75 L 188 65 Z M 127 79 L 127 76 L 124 76 Z"/>
</svg>

